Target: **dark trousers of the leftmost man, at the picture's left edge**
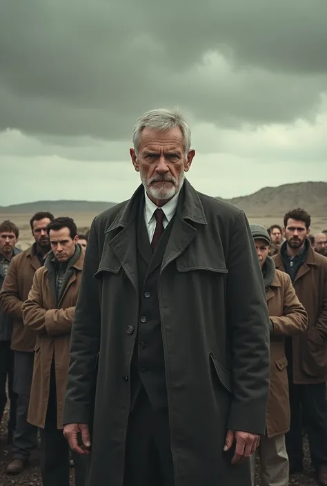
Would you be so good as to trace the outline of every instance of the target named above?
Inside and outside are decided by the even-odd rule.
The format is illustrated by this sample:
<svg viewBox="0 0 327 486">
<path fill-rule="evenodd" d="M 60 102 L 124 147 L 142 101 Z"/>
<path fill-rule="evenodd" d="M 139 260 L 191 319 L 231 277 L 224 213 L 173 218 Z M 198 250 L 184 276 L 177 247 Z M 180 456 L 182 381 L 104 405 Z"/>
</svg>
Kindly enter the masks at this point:
<svg viewBox="0 0 327 486">
<path fill-rule="evenodd" d="M 10 341 L 0 341 L 0 422 L 7 403 L 6 383 L 10 400 L 8 434 L 13 434 L 16 427 L 17 394 L 14 392 L 14 352 L 10 350 Z"/>
</svg>

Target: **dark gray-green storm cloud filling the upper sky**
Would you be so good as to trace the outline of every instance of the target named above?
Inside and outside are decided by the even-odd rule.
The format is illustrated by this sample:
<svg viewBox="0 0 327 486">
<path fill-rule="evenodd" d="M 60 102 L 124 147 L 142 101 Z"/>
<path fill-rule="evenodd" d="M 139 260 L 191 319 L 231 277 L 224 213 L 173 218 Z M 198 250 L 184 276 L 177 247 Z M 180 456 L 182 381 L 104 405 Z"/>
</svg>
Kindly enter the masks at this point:
<svg viewBox="0 0 327 486">
<path fill-rule="evenodd" d="M 326 19 L 325 0 L 4 2 L 0 129 L 119 141 L 176 104 L 221 127 L 313 121 Z"/>
</svg>

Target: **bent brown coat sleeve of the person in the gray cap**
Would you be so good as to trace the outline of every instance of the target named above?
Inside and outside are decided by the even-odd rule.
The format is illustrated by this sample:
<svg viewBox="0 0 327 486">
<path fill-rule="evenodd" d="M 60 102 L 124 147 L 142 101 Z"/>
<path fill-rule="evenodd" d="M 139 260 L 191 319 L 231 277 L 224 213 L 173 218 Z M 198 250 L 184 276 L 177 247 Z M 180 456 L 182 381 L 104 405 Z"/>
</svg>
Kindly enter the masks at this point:
<svg viewBox="0 0 327 486">
<path fill-rule="evenodd" d="M 282 316 L 270 316 L 273 321 L 273 334 L 276 336 L 295 336 L 306 330 L 308 314 L 295 294 L 295 290 L 288 274 L 281 274 L 284 280 L 284 303 Z"/>
</svg>

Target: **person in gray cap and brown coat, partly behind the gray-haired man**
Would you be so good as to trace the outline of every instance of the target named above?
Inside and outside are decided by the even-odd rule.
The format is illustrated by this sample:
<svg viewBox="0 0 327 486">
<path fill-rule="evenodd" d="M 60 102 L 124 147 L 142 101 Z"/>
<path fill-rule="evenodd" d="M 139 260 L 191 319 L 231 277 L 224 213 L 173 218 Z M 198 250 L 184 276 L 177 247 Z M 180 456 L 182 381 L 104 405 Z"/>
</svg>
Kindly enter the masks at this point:
<svg viewBox="0 0 327 486">
<path fill-rule="evenodd" d="M 288 486 L 288 455 L 285 434 L 290 427 L 288 377 L 285 337 L 300 334 L 308 325 L 308 314 L 299 302 L 290 277 L 276 270 L 268 256 L 270 236 L 263 226 L 250 225 L 264 276 L 266 299 L 271 321 L 270 393 L 266 436 L 261 437 L 259 458 L 261 486 Z M 252 485 L 255 478 L 255 454 L 251 456 Z"/>
</svg>

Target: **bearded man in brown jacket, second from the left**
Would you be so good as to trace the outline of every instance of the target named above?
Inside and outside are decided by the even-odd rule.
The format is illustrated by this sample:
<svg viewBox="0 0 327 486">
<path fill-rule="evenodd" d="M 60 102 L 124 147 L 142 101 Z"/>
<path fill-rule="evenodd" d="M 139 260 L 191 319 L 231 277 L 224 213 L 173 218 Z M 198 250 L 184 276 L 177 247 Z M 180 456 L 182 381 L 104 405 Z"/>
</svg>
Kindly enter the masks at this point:
<svg viewBox="0 0 327 486">
<path fill-rule="evenodd" d="M 11 349 L 14 351 L 14 392 L 18 394 L 12 460 L 6 469 L 9 474 L 19 474 L 27 465 L 32 450 L 37 447 L 37 427 L 27 422 L 35 336 L 24 327 L 21 307 L 32 287 L 35 271 L 43 265 L 50 251 L 46 227 L 53 217 L 50 212 L 37 212 L 32 216 L 30 227 L 34 243 L 12 259 L 0 293 L 3 312 L 6 312 L 13 322 Z"/>
</svg>

